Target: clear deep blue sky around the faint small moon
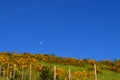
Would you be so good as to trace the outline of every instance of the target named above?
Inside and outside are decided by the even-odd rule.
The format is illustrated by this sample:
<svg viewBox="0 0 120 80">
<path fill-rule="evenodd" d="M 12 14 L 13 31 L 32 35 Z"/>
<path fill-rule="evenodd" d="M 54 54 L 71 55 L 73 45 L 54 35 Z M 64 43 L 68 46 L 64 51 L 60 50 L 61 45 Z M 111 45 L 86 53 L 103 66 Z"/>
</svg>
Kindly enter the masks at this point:
<svg viewBox="0 0 120 80">
<path fill-rule="evenodd" d="M 0 0 L 3 51 L 120 59 L 120 1 Z"/>
</svg>

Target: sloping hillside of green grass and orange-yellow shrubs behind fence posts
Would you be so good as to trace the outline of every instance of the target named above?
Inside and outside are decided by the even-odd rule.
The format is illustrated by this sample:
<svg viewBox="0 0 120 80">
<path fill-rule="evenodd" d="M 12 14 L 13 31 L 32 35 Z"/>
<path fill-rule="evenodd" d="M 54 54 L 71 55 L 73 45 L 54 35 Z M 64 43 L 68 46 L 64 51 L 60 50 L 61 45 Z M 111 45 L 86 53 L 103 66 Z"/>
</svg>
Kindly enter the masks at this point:
<svg viewBox="0 0 120 80">
<path fill-rule="evenodd" d="M 8 64 L 9 72 L 7 71 Z M 9 79 L 13 80 L 12 76 L 15 70 L 16 80 L 21 80 L 22 70 L 24 70 L 23 80 L 29 80 L 30 64 L 32 65 L 31 80 L 52 80 L 54 66 L 57 67 L 57 80 L 68 79 L 68 69 L 71 70 L 71 80 L 93 80 L 94 64 L 97 65 L 98 80 L 120 79 L 120 60 L 78 60 L 48 54 L 18 54 L 9 52 L 0 53 L 0 79 L 4 80 L 7 75 Z M 16 67 L 14 67 L 14 65 L 16 65 Z M 47 79 L 45 79 L 46 77 Z"/>
</svg>

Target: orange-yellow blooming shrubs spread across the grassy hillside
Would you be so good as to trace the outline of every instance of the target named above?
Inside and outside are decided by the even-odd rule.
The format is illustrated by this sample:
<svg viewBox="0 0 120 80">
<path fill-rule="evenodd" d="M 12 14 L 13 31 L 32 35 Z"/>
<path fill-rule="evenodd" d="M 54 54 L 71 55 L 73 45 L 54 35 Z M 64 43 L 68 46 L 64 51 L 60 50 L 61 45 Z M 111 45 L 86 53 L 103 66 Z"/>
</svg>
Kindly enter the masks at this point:
<svg viewBox="0 0 120 80">
<path fill-rule="evenodd" d="M 47 55 L 47 54 L 17 54 L 9 52 L 0 53 L 0 65 L 2 65 L 1 73 L 6 75 L 7 73 L 7 65 L 9 64 L 9 74 L 12 74 L 14 70 L 14 64 L 16 64 L 16 71 L 22 71 L 22 68 L 28 69 L 30 64 L 32 64 L 33 73 L 40 72 L 44 68 L 40 62 L 45 62 L 48 64 L 62 64 L 66 66 L 76 66 L 80 68 L 84 68 L 84 70 L 74 70 L 71 71 L 71 78 L 81 79 L 84 78 L 93 78 L 94 77 L 94 64 L 97 64 L 97 72 L 100 73 L 103 69 L 108 69 L 116 72 L 120 72 L 120 61 L 95 61 L 91 59 L 74 59 L 74 58 L 62 58 L 57 57 L 55 55 Z M 102 66 L 101 66 L 102 65 Z M 47 66 L 46 66 L 47 67 Z M 49 67 L 49 71 L 54 71 L 54 66 Z M 63 69 L 60 67 L 56 68 L 56 76 L 59 77 L 68 77 L 68 69 Z"/>
</svg>

